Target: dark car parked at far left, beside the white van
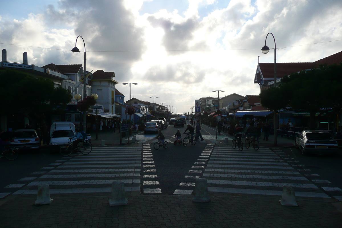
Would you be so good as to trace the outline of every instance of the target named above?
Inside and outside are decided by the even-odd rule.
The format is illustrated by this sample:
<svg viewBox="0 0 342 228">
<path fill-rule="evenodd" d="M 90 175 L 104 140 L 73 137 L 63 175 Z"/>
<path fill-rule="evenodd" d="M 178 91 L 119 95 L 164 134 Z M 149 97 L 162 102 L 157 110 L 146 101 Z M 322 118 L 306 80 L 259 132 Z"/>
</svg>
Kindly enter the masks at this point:
<svg viewBox="0 0 342 228">
<path fill-rule="evenodd" d="M 19 150 L 39 149 L 40 144 L 40 139 L 34 129 L 18 129 L 13 133 L 13 138 L 10 140 L 10 145 Z"/>
</svg>

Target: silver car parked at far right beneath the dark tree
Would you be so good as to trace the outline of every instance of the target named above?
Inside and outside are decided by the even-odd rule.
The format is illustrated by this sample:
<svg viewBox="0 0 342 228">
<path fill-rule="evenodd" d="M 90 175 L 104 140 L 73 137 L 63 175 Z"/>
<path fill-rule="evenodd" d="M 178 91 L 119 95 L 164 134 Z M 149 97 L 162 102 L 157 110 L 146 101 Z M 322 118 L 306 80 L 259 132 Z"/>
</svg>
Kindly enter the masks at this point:
<svg viewBox="0 0 342 228">
<path fill-rule="evenodd" d="M 322 130 L 302 131 L 296 137 L 295 146 L 302 151 L 303 155 L 307 153 L 337 154 L 339 150 L 337 141 L 329 132 Z"/>
</svg>

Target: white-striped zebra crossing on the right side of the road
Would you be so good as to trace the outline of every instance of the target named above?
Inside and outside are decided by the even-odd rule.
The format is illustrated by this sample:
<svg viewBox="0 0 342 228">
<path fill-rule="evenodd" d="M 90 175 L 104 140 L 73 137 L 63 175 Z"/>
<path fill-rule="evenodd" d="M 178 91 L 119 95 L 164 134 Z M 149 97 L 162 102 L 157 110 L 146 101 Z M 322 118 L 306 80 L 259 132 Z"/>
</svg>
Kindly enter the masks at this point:
<svg viewBox="0 0 342 228">
<path fill-rule="evenodd" d="M 217 147 L 211 153 L 203 178 L 208 180 L 211 192 L 281 196 L 282 187 L 290 184 L 296 196 L 330 198 L 282 156 L 269 148 L 239 151 L 229 146 Z"/>
</svg>

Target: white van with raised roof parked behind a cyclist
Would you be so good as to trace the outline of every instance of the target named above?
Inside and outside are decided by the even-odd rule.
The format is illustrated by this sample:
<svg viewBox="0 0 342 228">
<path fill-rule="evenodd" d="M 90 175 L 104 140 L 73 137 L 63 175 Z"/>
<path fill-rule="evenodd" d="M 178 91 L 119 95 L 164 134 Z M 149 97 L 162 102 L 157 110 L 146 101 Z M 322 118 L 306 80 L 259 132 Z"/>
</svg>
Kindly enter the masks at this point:
<svg viewBox="0 0 342 228">
<path fill-rule="evenodd" d="M 50 146 L 61 146 L 75 135 L 75 124 L 72 122 L 54 122 L 50 129 Z"/>
</svg>

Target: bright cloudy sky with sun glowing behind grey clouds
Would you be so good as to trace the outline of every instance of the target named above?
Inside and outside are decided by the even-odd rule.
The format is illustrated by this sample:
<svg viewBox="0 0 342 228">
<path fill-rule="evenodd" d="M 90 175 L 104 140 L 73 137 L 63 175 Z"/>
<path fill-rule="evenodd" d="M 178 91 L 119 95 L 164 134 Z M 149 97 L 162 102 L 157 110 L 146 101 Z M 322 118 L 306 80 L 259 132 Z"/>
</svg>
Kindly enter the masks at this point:
<svg viewBox="0 0 342 228">
<path fill-rule="evenodd" d="M 336 0 L 0 0 L 0 48 L 37 66 L 83 64 L 70 50 L 84 38 L 87 70 L 115 71 L 117 89 L 187 112 L 200 97 L 258 95 L 253 84 L 268 32 L 277 62 L 313 62 L 342 50 Z M 340 40 L 340 41 L 339 41 Z M 332 41 L 332 42 L 327 42 Z M 267 45 L 274 48 L 272 36 Z M 77 44 L 84 51 L 82 40 Z M 36 48 L 39 47 L 39 48 Z M 126 99 L 126 100 L 127 100 Z M 153 100 L 151 100 L 153 101 Z"/>
</svg>

